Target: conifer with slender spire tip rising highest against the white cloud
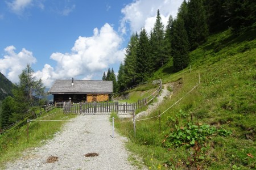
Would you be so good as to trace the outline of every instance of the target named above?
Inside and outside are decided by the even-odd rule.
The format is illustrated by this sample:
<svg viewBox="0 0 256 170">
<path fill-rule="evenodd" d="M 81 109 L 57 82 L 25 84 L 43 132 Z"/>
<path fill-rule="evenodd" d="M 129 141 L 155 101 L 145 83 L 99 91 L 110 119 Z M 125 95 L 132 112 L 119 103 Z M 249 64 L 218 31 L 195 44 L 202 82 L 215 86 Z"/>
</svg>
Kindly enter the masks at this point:
<svg viewBox="0 0 256 170">
<path fill-rule="evenodd" d="M 154 60 L 154 70 L 159 69 L 168 61 L 168 56 L 164 50 L 164 25 L 158 10 L 156 21 L 151 36 L 152 59 Z"/>
</svg>

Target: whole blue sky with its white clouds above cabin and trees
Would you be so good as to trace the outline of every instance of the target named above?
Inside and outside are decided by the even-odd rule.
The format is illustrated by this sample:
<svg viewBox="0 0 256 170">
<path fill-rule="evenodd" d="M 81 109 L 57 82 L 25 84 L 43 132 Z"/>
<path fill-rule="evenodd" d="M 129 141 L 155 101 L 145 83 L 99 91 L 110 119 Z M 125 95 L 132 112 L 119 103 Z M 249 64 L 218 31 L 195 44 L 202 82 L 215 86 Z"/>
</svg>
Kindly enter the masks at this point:
<svg viewBox="0 0 256 170">
<path fill-rule="evenodd" d="M 46 87 L 56 79 L 118 72 L 133 32 L 176 16 L 183 0 L 0 1 L 0 72 L 14 83 L 31 64 Z"/>
</svg>

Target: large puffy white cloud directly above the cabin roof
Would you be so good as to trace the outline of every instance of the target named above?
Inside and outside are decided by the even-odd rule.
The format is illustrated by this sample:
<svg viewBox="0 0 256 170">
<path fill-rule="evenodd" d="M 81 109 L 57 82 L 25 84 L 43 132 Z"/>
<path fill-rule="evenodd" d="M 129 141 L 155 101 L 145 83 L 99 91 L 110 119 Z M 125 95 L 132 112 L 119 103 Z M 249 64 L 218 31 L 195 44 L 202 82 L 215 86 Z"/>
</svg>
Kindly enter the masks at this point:
<svg viewBox="0 0 256 170">
<path fill-rule="evenodd" d="M 121 37 L 106 23 L 100 30 L 94 28 L 92 37 L 80 36 L 70 53 L 52 53 L 50 58 L 56 61 L 56 67 L 46 64 L 35 75 L 42 78 L 47 87 L 56 79 L 76 76 L 91 79 L 109 65 L 123 61 L 123 50 L 119 50 L 121 42 Z"/>
</svg>

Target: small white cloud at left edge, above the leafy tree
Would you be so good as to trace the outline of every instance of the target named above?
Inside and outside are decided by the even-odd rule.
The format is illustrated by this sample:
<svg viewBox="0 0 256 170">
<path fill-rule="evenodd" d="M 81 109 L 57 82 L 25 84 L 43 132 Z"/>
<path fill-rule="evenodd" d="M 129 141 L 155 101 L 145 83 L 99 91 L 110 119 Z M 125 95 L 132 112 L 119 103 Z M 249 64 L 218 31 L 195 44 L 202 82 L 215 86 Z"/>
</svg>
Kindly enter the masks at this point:
<svg viewBox="0 0 256 170">
<path fill-rule="evenodd" d="M 18 83 L 18 75 L 22 73 L 22 70 L 26 65 L 36 62 L 36 58 L 32 52 L 22 49 L 19 53 L 15 53 L 14 46 L 7 46 L 5 48 L 6 55 L 0 58 L 0 72 L 7 76 L 11 82 Z"/>
</svg>

